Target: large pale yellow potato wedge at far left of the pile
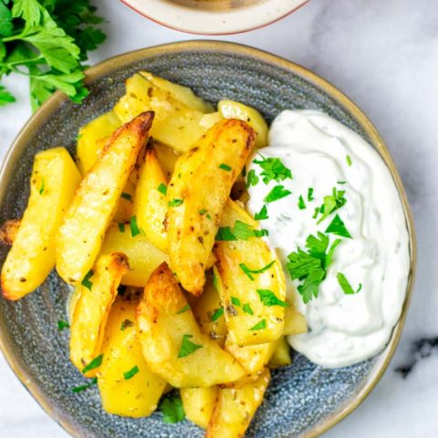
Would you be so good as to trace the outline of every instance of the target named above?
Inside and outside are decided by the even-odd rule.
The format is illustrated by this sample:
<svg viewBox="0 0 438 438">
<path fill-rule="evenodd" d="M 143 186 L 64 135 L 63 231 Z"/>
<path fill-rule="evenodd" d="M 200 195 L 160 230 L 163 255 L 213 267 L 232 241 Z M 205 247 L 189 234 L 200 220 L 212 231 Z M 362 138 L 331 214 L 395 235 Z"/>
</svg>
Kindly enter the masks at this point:
<svg viewBox="0 0 438 438">
<path fill-rule="evenodd" d="M 29 201 L 2 268 L 5 298 L 32 292 L 55 266 L 55 236 L 79 183 L 80 173 L 65 148 L 36 154 Z"/>
</svg>

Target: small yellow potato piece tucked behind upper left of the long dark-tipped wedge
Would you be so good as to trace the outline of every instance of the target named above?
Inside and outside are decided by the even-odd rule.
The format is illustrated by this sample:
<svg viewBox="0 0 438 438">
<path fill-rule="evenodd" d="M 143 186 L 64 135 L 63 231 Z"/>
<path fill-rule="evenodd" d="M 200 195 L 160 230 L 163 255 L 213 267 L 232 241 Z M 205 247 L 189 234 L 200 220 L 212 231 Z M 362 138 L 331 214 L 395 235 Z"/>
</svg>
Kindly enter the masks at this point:
<svg viewBox="0 0 438 438">
<path fill-rule="evenodd" d="M 79 171 L 85 175 L 98 161 L 110 135 L 121 125 L 114 111 L 109 111 L 91 120 L 80 128 L 76 149 L 76 162 Z"/>
</svg>

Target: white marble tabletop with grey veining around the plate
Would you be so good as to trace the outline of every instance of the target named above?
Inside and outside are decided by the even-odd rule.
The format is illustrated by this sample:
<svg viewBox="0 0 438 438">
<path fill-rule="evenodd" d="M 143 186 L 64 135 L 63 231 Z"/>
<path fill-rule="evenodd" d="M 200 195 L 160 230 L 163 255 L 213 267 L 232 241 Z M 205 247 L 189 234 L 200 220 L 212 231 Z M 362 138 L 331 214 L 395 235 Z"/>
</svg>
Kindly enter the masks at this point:
<svg viewBox="0 0 438 438">
<path fill-rule="evenodd" d="M 99 0 L 108 40 L 91 63 L 127 50 L 193 36 Z M 260 47 L 328 78 L 381 131 L 399 166 L 418 235 L 417 281 L 399 349 L 377 388 L 327 438 L 438 436 L 438 355 L 421 360 L 406 380 L 412 340 L 438 335 L 438 4 L 433 0 L 311 0 L 264 29 L 223 39 Z M 0 157 L 30 115 L 26 81 L 6 84 L 18 101 L 0 110 Z M 435 368 L 437 367 L 437 368 Z M 0 355 L 0 436 L 67 437 L 26 392 Z"/>
</svg>

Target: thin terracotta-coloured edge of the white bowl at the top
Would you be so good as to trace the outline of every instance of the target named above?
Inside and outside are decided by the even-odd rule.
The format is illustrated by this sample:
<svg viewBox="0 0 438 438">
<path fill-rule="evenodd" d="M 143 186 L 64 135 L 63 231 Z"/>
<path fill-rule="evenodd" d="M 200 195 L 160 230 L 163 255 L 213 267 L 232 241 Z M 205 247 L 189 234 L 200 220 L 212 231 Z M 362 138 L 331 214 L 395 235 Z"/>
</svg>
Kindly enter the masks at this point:
<svg viewBox="0 0 438 438">
<path fill-rule="evenodd" d="M 297 11 L 302 6 L 307 5 L 310 0 L 303 0 L 303 3 L 293 7 L 291 10 L 287 11 L 286 13 L 282 13 L 282 14 L 276 15 L 272 19 L 266 20 L 266 22 L 262 22 L 262 23 L 259 23 L 257 25 L 243 26 L 241 28 L 239 26 L 235 26 L 233 28 L 230 28 L 230 30 L 227 30 L 227 31 L 213 30 L 213 31 L 205 31 L 205 32 L 196 30 L 194 28 L 189 28 L 189 26 L 187 26 L 187 27 L 185 27 L 185 26 L 177 26 L 177 25 L 175 25 L 173 23 L 171 24 L 171 23 L 165 22 L 162 19 L 157 18 L 157 17 L 151 15 L 151 13 L 147 14 L 147 13 L 141 11 L 138 7 L 136 7 L 134 5 L 131 5 L 131 0 L 120 0 L 120 1 L 124 5 L 127 5 L 128 7 L 130 7 L 130 9 L 135 11 L 137 14 L 140 14 L 141 16 L 144 16 L 145 18 L 148 18 L 149 20 L 153 21 L 154 23 L 157 23 L 158 25 L 167 27 L 168 29 L 177 30 L 177 31 L 184 32 L 186 34 L 192 34 L 192 35 L 224 36 L 224 35 L 243 34 L 245 32 L 250 32 L 252 30 L 261 29 L 263 27 L 266 27 L 266 26 L 269 26 L 269 25 L 273 25 L 277 21 L 280 21 L 283 18 L 286 18 L 287 16 L 290 16 L 293 12 Z M 170 7 L 176 7 L 176 6 L 170 6 Z M 220 14 L 220 13 L 210 12 L 210 14 Z M 237 15 L 237 12 L 235 13 L 235 15 Z M 236 19 L 236 18 L 237 17 L 235 16 L 234 19 Z"/>
</svg>

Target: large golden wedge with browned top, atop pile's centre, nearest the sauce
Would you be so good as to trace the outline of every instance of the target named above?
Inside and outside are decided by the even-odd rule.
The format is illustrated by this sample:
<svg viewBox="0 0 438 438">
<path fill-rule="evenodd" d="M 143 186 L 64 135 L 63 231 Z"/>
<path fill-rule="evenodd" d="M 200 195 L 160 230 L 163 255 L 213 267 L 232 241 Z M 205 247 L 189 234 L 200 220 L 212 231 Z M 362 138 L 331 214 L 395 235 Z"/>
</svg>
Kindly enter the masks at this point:
<svg viewBox="0 0 438 438">
<path fill-rule="evenodd" d="M 195 296 L 203 292 L 224 204 L 254 140 L 244 121 L 222 120 L 176 163 L 167 191 L 169 255 L 184 289 Z"/>
</svg>

